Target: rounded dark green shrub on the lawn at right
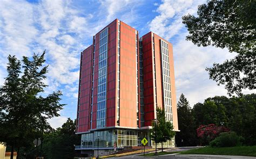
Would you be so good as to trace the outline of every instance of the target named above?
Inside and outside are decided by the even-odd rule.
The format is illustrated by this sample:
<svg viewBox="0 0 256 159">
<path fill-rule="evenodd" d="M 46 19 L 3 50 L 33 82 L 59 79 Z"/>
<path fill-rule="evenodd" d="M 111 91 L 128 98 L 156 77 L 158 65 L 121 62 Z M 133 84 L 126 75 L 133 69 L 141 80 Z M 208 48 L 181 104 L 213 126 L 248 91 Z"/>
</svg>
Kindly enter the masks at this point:
<svg viewBox="0 0 256 159">
<path fill-rule="evenodd" d="M 240 138 L 235 132 L 220 133 L 220 135 L 210 142 L 211 147 L 232 147 L 239 146 Z"/>
</svg>

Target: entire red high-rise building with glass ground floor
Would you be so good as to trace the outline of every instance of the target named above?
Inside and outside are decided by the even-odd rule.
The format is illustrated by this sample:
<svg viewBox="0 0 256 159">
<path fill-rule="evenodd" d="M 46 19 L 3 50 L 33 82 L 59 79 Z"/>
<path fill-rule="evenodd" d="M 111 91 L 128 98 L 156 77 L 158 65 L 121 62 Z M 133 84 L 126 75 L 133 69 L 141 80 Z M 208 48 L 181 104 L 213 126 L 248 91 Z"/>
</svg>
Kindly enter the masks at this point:
<svg viewBox="0 0 256 159">
<path fill-rule="evenodd" d="M 137 30 L 116 19 L 93 36 L 81 53 L 76 150 L 93 156 L 99 146 L 104 155 L 140 146 L 144 137 L 151 141 L 157 105 L 177 130 L 173 70 L 171 44 L 152 32 L 139 40 Z"/>
</svg>

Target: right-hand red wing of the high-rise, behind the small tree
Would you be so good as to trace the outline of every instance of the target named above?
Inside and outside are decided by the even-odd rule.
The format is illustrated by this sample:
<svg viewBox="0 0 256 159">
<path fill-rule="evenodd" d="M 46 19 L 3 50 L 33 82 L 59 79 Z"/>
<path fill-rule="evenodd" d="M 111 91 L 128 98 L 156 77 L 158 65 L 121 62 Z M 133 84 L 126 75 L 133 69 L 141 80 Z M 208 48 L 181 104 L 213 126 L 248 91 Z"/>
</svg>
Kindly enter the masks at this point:
<svg viewBox="0 0 256 159">
<path fill-rule="evenodd" d="M 174 130 L 178 131 L 172 44 L 153 32 L 143 35 L 139 41 L 141 98 L 144 102 L 141 103 L 144 110 L 141 125 L 151 126 L 158 106 L 165 110 L 166 120 L 171 121 Z"/>
</svg>

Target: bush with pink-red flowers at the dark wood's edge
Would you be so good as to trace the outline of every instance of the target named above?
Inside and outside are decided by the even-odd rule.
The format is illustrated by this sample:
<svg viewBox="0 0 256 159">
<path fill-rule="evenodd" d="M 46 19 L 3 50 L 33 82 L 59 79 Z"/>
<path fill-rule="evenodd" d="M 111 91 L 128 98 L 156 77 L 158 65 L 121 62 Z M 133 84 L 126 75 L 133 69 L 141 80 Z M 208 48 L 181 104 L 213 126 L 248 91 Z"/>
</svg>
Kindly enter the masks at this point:
<svg viewBox="0 0 256 159">
<path fill-rule="evenodd" d="M 222 132 L 229 132 L 230 130 L 223 126 L 216 126 L 214 124 L 200 125 L 197 128 L 197 136 L 201 141 L 201 144 L 209 144 L 210 141 L 219 136 Z"/>
</svg>

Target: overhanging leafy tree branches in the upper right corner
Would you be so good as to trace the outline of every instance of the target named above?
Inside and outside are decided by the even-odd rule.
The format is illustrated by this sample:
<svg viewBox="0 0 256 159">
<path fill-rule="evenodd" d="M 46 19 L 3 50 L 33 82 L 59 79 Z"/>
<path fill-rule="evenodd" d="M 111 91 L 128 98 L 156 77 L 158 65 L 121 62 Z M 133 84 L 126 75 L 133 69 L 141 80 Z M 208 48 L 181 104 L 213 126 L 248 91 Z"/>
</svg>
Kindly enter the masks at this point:
<svg viewBox="0 0 256 159">
<path fill-rule="evenodd" d="M 189 32 L 187 40 L 197 46 L 212 45 L 238 53 L 234 59 L 206 68 L 211 79 L 225 85 L 229 95 L 256 88 L 255 8 L 256 2 L 249 0 L 208 1 L 198 6 L 198 17 L 183 17 Z"/>
</svg>

